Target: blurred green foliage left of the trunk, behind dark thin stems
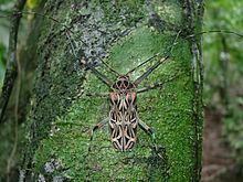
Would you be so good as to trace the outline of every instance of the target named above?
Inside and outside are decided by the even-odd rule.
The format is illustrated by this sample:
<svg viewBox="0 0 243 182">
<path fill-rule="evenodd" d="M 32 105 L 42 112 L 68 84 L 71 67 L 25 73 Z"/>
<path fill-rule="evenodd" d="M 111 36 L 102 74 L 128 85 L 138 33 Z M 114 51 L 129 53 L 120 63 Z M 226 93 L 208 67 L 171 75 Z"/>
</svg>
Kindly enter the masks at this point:
<svg viewBox="0 0 243 182">
<path fill-rule="evenodd" d="M 0 0 L 0 10 L 10 11 L 14 4 L 15 0 Z M 38 3 L 38 0 L 28 0 L 25 10 L 34 9 Z M 9 15 L 9 13 L 0 13 L 3 15 Z M 25 43 L 27 34 L 29 32 L 29 22 L 32 20 L 33 15 L 29 17 L 27 14 L 23 15 L 20 23 L 19 29 L 19 38 L 18 38 L 18 47 L 23 49 Z M 6 62 L 7 62 L 7 52 L 8 52 L 8 43 L 9 43 L 9 25 L 10 21 L 8 18 L 0 18 L 0 88 L 2 86 L 4 71 L 6 71 Z M 18 52 L 21 52 L 20 50 Z M 24 84 L 28 85 L 28 84 Z M 23 89 L 23 88 L 22 88 Z M 29 89 L 29 88 L 27 88 Z M 8 173 L 8 169 L 11 169 L 10 173 L 14 173 L 14 171 L 19 171 L 18 163 L 21 160 L 21 151 L 22 146 L 21 141 L 24 138 L 24 125 L 19 125 L 15 128 L 13 108 L 15 107 L 15 92 L 13 92 L 13 98 L 9 103 L 9 110 L 7 110 L 6 116 L 8 121 L 0 126 L 0 181 L 6 181 L 4 178 Z M 22 99 L 22 98 L 21 98 Z M 22 108 L 19 107 L 19 113 L 21 113 Z M 21 115 L 21 114 L 20 114 Z M 20 121 L 19 121 L 20 122 Z M 17 137 L 18 135 L 18 137 Z M 18 142 L 17 150 L 14 150 L 14 142 Z"/>
</svg>

